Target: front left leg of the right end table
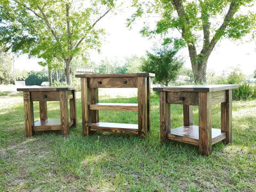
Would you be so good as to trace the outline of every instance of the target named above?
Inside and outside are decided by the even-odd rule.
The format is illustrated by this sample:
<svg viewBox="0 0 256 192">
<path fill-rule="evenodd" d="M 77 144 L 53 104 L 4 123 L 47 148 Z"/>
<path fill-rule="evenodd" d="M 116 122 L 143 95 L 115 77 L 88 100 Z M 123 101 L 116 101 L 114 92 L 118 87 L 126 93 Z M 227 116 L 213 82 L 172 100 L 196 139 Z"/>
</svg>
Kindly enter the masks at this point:
<svg viewBox="0 0 256 192">
<path fill-rule="evenodd" d="M 160 136 L 161 143 L 168 143 L 168 132 L 171 129 L 170 104 L 166 103 L 166 92 L 160 92 Z"/>
</svg>

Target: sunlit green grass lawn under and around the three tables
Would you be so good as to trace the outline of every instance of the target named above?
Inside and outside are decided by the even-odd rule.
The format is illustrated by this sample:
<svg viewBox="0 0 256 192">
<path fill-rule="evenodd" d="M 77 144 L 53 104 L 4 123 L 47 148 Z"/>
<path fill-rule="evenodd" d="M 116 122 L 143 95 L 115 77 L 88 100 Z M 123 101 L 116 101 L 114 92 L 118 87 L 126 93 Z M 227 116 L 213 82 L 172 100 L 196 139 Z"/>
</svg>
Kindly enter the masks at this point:
<svg viewBox="0 0 256 192">
<path fill-rule="evenodd" d="M 68 136 L 45 131 L 27 138 L 22 93 L 0 97 L 0 191 L 256 191 L 256 100 L 233 102 L 233 142 L 217 143 L 205 157 L 192 145 L 161 145 L 157 97 L 151 100 L 152 131 L 144 140 L 133 134 L 83 136 L 80 98 L 77 93 L 78 125 Z M 48 116 L 60 116 L 58 102 L 47 106 Z M 172 127 L 182 125 L 182 106 L 171 108 Z M 136 117 L 100 111 L 106 122 L 136 124 Z M 220 127 L 220 105 L 212 107 L 212 125 Z"/>
</svg>

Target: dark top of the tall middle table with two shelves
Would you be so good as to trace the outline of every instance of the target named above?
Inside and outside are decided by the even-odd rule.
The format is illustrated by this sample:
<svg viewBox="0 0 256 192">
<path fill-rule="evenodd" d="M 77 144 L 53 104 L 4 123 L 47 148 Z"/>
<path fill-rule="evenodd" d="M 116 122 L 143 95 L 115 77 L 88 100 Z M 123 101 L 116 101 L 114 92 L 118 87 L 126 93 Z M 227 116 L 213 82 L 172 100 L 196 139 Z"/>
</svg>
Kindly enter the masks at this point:
<svg viewBox="0 0 256 192">
<path fill-rule="evenodd" d="M 76 77 L 88 78 L 105 78 L 105 77 L 155 77 L 151 73 L 137 73 L 137 74 L 76 74 Z"/>
</svg>

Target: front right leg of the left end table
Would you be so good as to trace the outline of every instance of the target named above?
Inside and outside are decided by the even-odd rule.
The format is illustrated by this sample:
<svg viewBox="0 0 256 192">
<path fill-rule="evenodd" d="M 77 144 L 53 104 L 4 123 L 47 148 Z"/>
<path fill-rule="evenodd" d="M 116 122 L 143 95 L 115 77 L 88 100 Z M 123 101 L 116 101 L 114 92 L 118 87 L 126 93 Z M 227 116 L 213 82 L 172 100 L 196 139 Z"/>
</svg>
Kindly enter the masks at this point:
<svg viewBox="0 0 256 192">
<path fill-rule="evenodd" d="M 67 92 L 59 92 L 60 94 L 60 121 L 61 134 L 68 134 L 68 99 Z"/>
</svg>

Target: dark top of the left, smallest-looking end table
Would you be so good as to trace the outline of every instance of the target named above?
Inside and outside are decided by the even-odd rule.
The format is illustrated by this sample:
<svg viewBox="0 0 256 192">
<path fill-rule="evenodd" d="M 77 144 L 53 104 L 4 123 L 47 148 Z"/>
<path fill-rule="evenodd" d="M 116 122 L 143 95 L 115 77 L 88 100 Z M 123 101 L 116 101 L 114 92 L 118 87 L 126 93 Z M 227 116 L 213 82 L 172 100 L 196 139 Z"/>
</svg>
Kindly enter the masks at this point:
<svg viewBox="0 0 256 192">
<path fill-rule="evenodd" d="M 72 91 L 77 90 L 77 87 L 72 86 L 61 86 L 61 87 L 25 87 L 17 88 L 18 92 L 63 92 L 63 91 Z"/>
</svg>

